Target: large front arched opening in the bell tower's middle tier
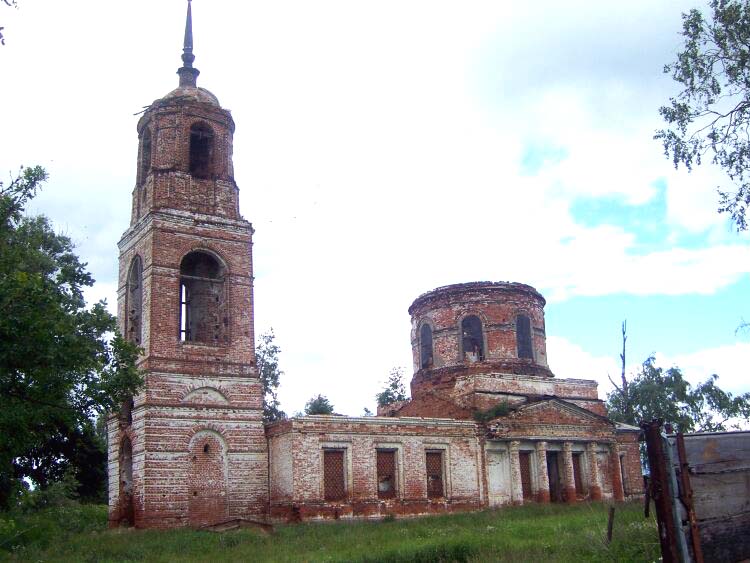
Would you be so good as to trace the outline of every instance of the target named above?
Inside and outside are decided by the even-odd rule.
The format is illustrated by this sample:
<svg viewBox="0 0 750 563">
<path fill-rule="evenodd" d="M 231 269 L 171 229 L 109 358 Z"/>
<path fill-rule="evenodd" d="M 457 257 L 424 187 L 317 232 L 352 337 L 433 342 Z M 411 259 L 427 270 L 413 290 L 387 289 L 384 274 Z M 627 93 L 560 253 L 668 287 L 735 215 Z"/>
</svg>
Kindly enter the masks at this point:
<svg viewBox="0 0 750 563">
<path fill-rule="evenodd" d="M 180 264 L 180 340 L 228 342 L 224 267 L 207 252 L 191 252 Z"/>
</svg>

